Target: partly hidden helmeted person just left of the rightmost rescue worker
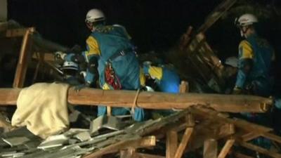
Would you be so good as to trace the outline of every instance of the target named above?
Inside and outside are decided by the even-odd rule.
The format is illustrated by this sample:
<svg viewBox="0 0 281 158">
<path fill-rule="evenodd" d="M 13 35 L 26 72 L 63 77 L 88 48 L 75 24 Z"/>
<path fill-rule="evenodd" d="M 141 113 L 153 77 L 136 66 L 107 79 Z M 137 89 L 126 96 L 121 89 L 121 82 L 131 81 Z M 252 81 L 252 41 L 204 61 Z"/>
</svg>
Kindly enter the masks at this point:
<svg viewBox="0 0 281 158">
<path fill-rule="evenodd" d="M 235 86 L 238 72 L 238 59 L 234 56 L 226 58 L 223 68 L 223 78 L 226 81 L 225 93 L 230 94 Z"/>
</svg>

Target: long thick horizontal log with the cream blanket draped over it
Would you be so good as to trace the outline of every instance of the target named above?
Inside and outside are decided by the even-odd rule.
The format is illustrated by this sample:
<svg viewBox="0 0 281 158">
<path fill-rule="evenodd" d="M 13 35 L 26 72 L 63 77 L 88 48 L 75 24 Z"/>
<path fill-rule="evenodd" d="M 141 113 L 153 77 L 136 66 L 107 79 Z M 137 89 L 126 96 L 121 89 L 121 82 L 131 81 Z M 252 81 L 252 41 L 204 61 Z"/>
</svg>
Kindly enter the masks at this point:
<svg viewBox="0 0 281 158">
<path fill-rule="evenodd" d="M 16 105 L 20 90 L 20 88 L 0 88 L 0 105 Z M 77 92 L 70 88 L 67 101 L 74 105 L 131 107 L 134 98 L 136 91 L 84 88 Z M 138 94 L 136 105 L 145 109 L 185 109 L 192 105 L 206 105 L 220 112 L 266 112 L 272 102 L 270 98 L 259 96 L 141 92 Z"/>
</svg>

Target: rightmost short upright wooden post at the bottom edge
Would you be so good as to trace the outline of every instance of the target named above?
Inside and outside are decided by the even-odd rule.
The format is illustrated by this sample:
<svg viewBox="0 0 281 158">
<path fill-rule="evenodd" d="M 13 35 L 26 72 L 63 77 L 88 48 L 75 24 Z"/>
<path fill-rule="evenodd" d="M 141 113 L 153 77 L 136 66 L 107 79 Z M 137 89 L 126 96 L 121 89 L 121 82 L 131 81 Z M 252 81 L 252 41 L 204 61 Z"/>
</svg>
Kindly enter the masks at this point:
<svg viewBox="0 0 281 158">
<path fill-rule="evenodd" d="M 216 158 L 218 154 L 218 142 L 215 139 L 204 141 L 203 158 Z"/>
</svg>

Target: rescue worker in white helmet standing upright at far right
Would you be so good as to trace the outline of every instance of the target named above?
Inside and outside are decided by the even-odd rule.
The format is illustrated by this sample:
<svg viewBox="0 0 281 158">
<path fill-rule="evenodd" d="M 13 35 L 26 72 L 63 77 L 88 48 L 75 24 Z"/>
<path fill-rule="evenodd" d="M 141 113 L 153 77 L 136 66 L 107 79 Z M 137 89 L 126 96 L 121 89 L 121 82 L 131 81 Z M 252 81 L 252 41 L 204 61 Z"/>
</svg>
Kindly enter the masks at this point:
<svg viewBox="0 0 281 158">
<path fill-rule="evenodd" d="M 244 14 L 236 21 L 245 39 L 239 45 L 239 70 L 233 88 L 235 94 L 247 91 L 257 96 L 270 95 L 269 72 L 275 58 L 274 51 L 266 39 L 258 36 L 255 29 L 257 22 L 258 19 L 252 14 Z"/>
</svg>

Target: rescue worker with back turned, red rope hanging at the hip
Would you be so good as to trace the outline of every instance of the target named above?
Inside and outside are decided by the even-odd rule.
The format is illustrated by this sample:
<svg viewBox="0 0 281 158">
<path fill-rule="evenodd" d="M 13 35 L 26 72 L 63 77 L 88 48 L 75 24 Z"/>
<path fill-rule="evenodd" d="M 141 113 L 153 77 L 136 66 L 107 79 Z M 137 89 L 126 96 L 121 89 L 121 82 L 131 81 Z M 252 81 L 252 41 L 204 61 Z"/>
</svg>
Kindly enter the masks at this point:
<svg viewBox="0 0 281 158">
<path fill-rule="evenodd" d="M 141 87 L 140 67 L 136 57 L 135 46 L 131 37 L 121 25 L 105 25 L 105 15 L 94 8 L 86 14 L 86 26 L 91 35 L 86 39 L 87 51 L 81 55 L 68 54 L 65 60 L 83 62 L 86 60 L 85 85 L 91 86 L 98 79 L 100 88 L 104 90 L 136 90 Z M 134 110 L 133 118 L 136 121 L 144 119 L 143 109 Z M 98 107 L 98 116 L 106 114 L 105 106 Z M 113 107 L 113 115 L 124 115 L 129 109 Z"/>
</svg>

